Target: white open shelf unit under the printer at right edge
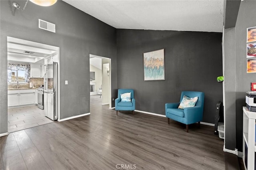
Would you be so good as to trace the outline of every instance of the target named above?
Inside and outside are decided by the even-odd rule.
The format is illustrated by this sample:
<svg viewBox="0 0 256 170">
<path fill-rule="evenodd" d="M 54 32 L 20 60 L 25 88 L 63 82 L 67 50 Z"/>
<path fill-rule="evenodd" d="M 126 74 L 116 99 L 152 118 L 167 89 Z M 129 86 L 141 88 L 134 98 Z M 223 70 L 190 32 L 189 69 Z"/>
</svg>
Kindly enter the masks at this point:
<svg viewBox="0 0 256 170">
<path fill-rule="evenodd" d="M 243 161 L 247 170 L 255 170 L 255 119 L 256 113 L 243 107 Z"/>
</svg>

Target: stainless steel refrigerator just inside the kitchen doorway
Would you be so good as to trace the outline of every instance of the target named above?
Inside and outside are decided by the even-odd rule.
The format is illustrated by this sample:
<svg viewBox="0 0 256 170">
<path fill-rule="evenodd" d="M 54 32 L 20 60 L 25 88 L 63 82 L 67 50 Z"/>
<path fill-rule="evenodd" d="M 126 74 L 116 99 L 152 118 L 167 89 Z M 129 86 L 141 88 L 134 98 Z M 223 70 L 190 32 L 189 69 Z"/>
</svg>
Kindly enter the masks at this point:
<svg viewBox="0 0 256 170">
<path fill-rule="evenodd" d="M 44 114 L 46 117 L 58 119 L 58 63 L 44 65 Z"/>
</svg>

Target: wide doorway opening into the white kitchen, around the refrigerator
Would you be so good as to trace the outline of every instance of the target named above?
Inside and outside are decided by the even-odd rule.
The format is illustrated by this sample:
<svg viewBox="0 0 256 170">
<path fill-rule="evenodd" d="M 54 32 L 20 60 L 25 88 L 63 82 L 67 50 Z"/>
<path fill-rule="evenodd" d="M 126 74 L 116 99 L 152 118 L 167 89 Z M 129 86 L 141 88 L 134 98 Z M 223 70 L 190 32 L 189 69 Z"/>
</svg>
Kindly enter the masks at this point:
<svg viewBox="0 0 256 170">
<path fill-rule="evenodd" d="M 8 132 L 52 123 L 46 117 L 46 109 L 42 107 L 43 103 L 46 105 L 44 95 L 41 95 L 44 89 L 39 89 L 44 86 L 45 62 L 51 60 L 59 63 L 59 47 L 7 37 L 7 51 Z M 56 77 L 59 77 L 59 73 L 58 67 Z M 59 96 L 58 88 L 56 97 L 59 99 Z M 41 103 L 40 107 L 38 103 Z"/>
</svg>

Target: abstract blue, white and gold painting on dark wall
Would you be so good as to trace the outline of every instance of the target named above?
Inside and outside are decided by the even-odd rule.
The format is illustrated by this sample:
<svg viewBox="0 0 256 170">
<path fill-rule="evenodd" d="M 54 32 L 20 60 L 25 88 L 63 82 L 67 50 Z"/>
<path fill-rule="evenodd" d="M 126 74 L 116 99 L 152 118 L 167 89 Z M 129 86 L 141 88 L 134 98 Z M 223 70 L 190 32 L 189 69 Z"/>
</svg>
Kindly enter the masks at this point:
<svg viewBox="0 0 256 170">
<path fill-rule="evenodd" d="M 164 49 L 144 53 L 144 81 L 164 80 Z"/>
</svg>

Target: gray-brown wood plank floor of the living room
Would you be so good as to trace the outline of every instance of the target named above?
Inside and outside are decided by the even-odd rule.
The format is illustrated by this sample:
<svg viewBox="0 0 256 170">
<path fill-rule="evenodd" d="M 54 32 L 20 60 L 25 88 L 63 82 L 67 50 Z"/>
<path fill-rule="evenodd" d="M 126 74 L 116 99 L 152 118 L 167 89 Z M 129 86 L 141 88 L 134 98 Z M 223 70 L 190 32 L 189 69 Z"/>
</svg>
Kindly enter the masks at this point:
<svg viewBox="0 0 256 170">
<path fill-rule="evenodd" d="M 164 117 L 116 116 L 100 100 L 91 96 L 91 115 L 1 137 L 1 170 L 225 169 L 223 140 L 214 127 L 191 125 L 187 133 Z"/>
</svg>

